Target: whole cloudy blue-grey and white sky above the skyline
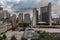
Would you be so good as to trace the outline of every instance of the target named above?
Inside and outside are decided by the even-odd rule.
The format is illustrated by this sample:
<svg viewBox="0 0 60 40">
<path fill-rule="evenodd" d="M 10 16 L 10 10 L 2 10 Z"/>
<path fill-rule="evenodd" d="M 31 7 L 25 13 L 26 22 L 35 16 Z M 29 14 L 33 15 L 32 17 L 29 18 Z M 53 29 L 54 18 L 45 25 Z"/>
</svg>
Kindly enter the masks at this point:
<svg viewBox="0 0 60 40">
<path fill-rule="evenodd" d="M 31 12 L 33 8 L 46 6 L 49 2 L 52 3 L 52 16 L 60 15 L 60 0 L 0 0 L 0 6 L 10 13 Z"/>
</svg>

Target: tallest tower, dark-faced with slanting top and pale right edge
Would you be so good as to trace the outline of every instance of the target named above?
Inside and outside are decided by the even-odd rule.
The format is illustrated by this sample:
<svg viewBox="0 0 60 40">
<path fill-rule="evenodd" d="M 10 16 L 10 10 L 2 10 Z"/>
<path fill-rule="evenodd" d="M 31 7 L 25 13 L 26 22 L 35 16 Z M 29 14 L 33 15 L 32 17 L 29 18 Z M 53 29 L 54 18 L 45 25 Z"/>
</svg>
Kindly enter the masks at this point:
<svg viewBox="0 0 60 40">
<path fill-rule="evenodd" d="M 48 4 L 48 6 L 44 6 L 40 8 L 40 19 L 43 22 L 46 22 L 47 25 L 52 25 L 51 23 L 51 3 Z"/>
</svg>

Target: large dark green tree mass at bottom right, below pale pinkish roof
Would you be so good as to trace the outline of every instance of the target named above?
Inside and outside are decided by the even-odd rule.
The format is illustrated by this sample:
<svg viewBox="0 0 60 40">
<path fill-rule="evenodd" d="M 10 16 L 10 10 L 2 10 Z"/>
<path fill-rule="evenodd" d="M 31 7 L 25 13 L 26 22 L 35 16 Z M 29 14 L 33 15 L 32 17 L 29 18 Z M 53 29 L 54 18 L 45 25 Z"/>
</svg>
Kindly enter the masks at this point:
<svg viewBox="0 0 60 40">
<path fill-rule="evenodd" d="M 50 35 L 49 33 L 43 32 L 40 33 L 39 40 L 56 40 L 56 37 Z"/>
</svg>

